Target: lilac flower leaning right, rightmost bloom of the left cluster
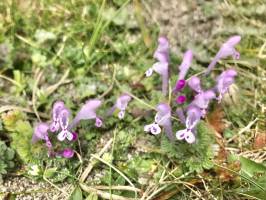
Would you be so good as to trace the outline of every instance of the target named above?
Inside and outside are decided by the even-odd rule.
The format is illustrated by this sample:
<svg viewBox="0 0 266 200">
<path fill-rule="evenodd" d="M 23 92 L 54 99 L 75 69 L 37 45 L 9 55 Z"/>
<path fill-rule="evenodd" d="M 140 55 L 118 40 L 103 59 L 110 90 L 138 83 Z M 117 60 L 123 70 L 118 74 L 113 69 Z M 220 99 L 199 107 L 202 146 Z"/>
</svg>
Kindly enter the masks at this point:
<svg viewBox="0 0 266 200">
<path fill-rule="evenodd" d="M 102 121 L 99 117 L 97 117 L 96 110 L 100 107 L 101 101 L 98 99 L 88 100 L 86 103 L 81 107 L 80 111 L 73 119 L 72 123 L 69 126 L 69 129 L 74 128 L 80 120 L 85 119 L 95 119 L 95 125 L 102 125 Z"/>
</svg>

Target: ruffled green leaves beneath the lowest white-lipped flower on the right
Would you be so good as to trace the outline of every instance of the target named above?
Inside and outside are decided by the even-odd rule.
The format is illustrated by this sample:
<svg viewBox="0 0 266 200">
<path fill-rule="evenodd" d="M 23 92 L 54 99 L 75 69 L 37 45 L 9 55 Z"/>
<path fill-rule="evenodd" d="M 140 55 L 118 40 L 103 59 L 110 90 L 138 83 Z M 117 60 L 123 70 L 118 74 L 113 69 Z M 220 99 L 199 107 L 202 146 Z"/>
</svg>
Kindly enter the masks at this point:
<svg viewBox="0 0 266 200">
<path fill-rule="evenodd" d="M 207 124 L 201 121 L 197 126 L 197 141 L 193 145 L 185 142 L 172 143 L 162 138 L 161 150 L 168 157 L 183 165 L 184 170 L 202 172 L 213 167 L 213 133 Z"/>
</svg>

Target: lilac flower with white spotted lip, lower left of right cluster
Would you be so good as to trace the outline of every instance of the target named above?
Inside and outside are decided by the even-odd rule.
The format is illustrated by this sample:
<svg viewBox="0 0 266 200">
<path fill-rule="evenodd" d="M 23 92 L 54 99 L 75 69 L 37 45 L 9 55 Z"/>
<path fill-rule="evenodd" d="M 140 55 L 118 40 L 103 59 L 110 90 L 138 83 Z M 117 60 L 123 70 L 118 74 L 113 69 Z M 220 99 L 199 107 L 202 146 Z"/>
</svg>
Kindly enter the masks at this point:
<svg viewBox="0 0 266 200">
<path fill-rule="evenodd" d="M 169 139 L 173 139 L 172 122 L 171 122 L 171 108 L 165 103 L 160 103 L 156 107 L 157 113 L 154 117 L 154 122 L 144 126 L 145 132 L 151 132 L 154 135 L 161 133 L 162 126 Z"/>
</svg>

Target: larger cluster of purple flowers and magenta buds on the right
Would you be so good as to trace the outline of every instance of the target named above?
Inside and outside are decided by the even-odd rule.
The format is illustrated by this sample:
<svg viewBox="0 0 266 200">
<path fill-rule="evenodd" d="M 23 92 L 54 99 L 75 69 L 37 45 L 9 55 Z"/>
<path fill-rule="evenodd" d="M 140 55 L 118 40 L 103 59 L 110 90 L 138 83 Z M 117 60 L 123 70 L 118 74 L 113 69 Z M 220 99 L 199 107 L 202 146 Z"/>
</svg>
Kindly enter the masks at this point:
<svg viewBox="0 0 266 200">
<path fill-rule="evenodd" d="M 223 58 L 232 56 L 233 59 L 239 59 L 240 54 L 236 51 L 235 46 L 240 42 L 240 36 L 230 37 L 220 48 L 210 65 L 208 66 L 205 75 L 215 67 L 215 64 Z M 166 38 L 159 38 L 158 48 L 154 53 L 154 58 L 158 60 L 151 68 L 146 71 L 146 76 L 150 76 L 152 71 L 156 71 L 162 77 L 162 93 L 167 94 L 168 79 L 169 79 L 169 42 Z M 186 102 L 187 98 L 182 95 L 182 90 L 186 85 L 193 91 L 194 97 L 185 108 L 180 106 L 176 109 L 176 115 L 179 117 L 180 122 L 185 126 L 185 129 L 176 132 L 178 140 L 185 140 L 188 143 L 196 141 L 196 126 L 204 118 L 211 100 L 216 99 L 218 103 L 221 102 L 222 97 L 228 92 L 228 88 L 234 83 L 237 72 L 234 69 L 228 69 L 222 72 L 216 78 L 216 85 L 212 89 L 204 90 L 201 85 L 201 79 L 197 76 L 192 76 L 185 79 L 188 70 L 191 66 L 193 53 L 188 50 L 184 53 L 183 61 L 179 66 L 178 79 L 173 89 L 173 94 L 176 97 L 176 103 L 182 105 Z M 165 86 L 167 85 L 167 86 Z M 154 123 L 144 126 L 145 132 L 150 132 L 157 135 L 161 132 L 160 126 L 165 129 L 169 139 L 173 139 L 172 126 L 171 126 L 171 107 L 167 103 L 160 103 L 157 108 Z"/>
</svg>

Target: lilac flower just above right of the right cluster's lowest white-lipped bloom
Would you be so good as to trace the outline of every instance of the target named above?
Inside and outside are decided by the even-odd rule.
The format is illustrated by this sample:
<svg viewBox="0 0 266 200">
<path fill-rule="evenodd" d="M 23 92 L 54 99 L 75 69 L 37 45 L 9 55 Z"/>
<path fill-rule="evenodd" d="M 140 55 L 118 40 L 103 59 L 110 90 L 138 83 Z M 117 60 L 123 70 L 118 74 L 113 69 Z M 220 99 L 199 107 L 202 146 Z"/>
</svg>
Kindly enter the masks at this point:
<svg viewBox="0 0 266 200">
<path fill-rule="evenodd" d="M 212 90 L 207 90 L 197 94 L 194 100 L 191 102 L 191 105 L 200 108 L 201 116 L 205 117 L 209 102 L 215 97 L 215 93 Z"/>
</svg>

